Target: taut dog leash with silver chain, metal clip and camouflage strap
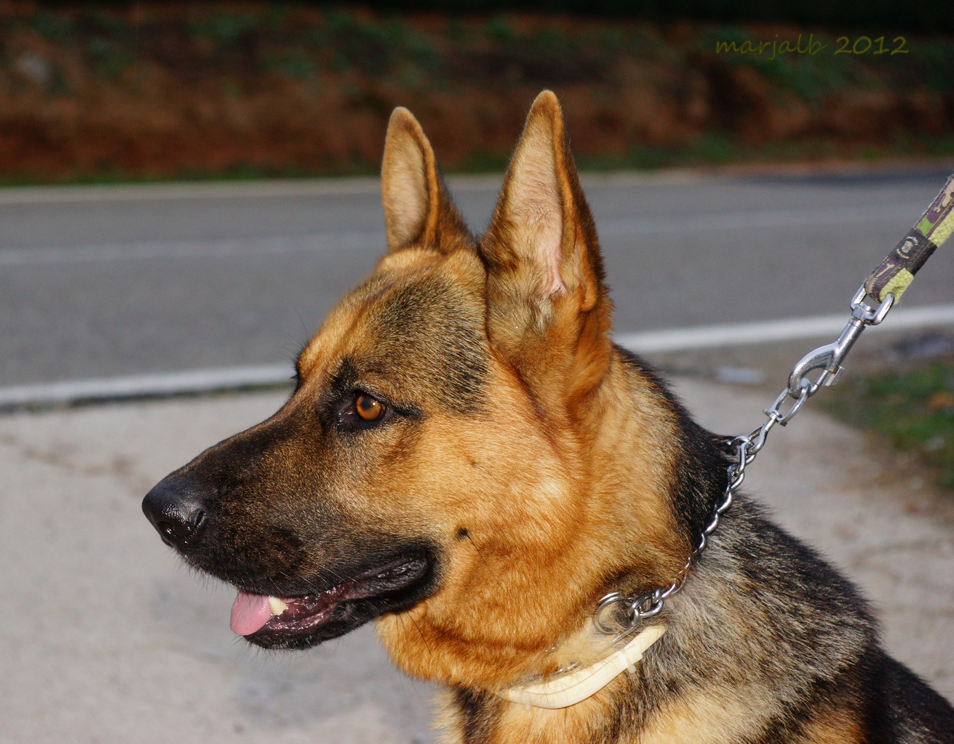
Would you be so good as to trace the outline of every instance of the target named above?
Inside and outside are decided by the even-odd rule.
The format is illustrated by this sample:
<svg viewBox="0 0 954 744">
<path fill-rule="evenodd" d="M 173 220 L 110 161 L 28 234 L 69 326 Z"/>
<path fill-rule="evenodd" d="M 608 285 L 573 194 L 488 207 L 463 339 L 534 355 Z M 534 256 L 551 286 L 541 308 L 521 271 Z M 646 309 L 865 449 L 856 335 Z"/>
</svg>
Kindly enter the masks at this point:
<svg viewBox="0 0 954 744">
<path fill-rule="evenodd" d="M 950 237 L 951 232 L 954 232 L 954 176 L 947 180 L 941 193 L 902 242 L 855 292 L 851 300 L 851 317 L 838 339 L 801 358 L 788 376 L 788 387 L 779 393 L 771 408 L 763 411 L 768 416 L 767 421 L 750 434 L 734 436 L 726 442 L 729 448 L 735 450 L 735 461 L 728 467 L 728 482 L 723 498 L 716 504 L 698 544 L 673 583 L 665 589 L 655 588 L 634 597 L 624 596 L 618 591 L 607 594 L 599 601 L 593 614 L 593 626 L 599 632 L 615 634 L 614 640 L 617 641 L 628 636 L 641 621 L 659 614 L 666 600 L 682 589 L 695 559 L 705 550 L 709 536 L 716 530 L 719 518 L 732 505 L 736 490 L 745 479 L 745 468 L 765 446 L 765 439 L 772 428 L 776 424 L 785 426 L 812 395 L 822 387 L 838 382 L 841 372 L 844 372 L 841 362 L 855 345 L 861 331 L 868 326 L 877 326 L 884 320 L 888 310 L 911 284 L 914 275 L 937 247 Z M 873 308 L 865 304 L 866 296 L 877 301 L 878 306 Z M 814 380 L 811 379 L 809 374 L 817 370 L 820 372 Z M 788 398 L 794 402 L 783 412 Z M 625 618 L 625 622 L 621 623 L 621 618 Z"/>
</svg>

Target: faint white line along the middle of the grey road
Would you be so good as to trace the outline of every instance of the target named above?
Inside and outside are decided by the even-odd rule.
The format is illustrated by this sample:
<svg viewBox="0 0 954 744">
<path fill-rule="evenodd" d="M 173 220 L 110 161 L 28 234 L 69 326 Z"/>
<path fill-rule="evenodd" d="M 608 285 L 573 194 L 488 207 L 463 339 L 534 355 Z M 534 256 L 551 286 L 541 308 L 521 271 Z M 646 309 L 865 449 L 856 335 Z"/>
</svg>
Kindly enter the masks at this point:
<svg viewBox="0 0 954 744">
<path fill-rule="evenodd" d="M 625 238 L 666 233 L 751 230 L 759 227 L 816 226 L 870 222 L 914 223 L 921 203 L 881 204 L 811 209 L 763 209 L 748 212 L 712 212 L 653 218 L 608 219 L 600 222 L 604 238 Z M 384 232 L 314 233 L 266 238 L 150 241 L 126 244 L 0 249 L 0 266 L 52 266 L 95 261 L 142 259 L 223 258 L 270 256 L 313 251 L 379 249 L 384 252 Z"/>
</svg>

